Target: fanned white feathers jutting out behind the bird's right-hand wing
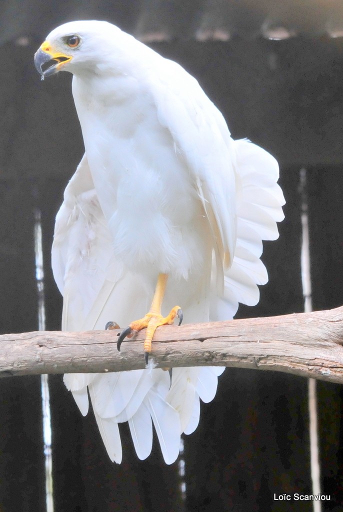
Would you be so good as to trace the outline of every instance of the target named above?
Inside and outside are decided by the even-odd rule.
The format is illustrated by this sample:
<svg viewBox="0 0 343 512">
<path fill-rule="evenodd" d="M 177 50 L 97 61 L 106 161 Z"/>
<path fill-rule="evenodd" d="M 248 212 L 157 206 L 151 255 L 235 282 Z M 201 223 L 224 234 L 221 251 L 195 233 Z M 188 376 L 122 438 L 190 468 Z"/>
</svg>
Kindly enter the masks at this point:
<svg viewBox="0 0 343 512">
<path fill-rule="evenodd" d="M 211 289 L 210 319 L 227 319 L 239 303 L 254 306 L 259 302 L 258 285 L 268 281 L 260 257 L 262 240 L 278 237 L 276 222 L 284 218 L 285 199 L 278 180 L 276 160 L 261 147 L 246 139 L 233 143 L 237 199 L 237 242 L 230 268 L 224 270 L 224 292 Z"/>
</svg>

